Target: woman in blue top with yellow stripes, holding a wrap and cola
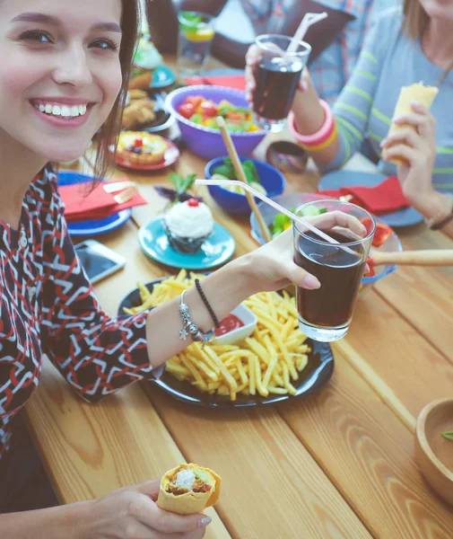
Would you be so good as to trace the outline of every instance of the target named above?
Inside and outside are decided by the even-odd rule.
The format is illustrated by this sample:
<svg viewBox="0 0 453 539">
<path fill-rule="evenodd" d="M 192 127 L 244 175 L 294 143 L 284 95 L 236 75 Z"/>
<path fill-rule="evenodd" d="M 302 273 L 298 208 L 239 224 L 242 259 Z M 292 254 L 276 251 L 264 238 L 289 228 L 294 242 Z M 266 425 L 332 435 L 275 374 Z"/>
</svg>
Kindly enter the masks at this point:
<svg viewBox="0 0 453 539">
<path fill-rule="evenodd" d="M 338 169 L 363 145 L 384 174 L 397 173 L 406 199 L 427 223 L 453 238 L 453 4 L 405 0 L 403 10 L 384 14 L 366 40 L 353 75 L 333 107 L 335 133 L 329 144 L 309 153 L 322 172 Z M 255 81 L 257 49 L 248 50 L 248 96 Z M 402 86 L 423 81 L 438 85 L 431 112 L 413 103 L 411 114 L 396 119 L 404 128 L 388 137 Z M 326 125 L 327 103 L 320 102 L 309 74 L 302 75 L 292 105 L 292 127 L 300 139 Z M 437 125 L 436 125 L 436 119 Z M 318 145 L 319 146 L 319 145 Z M 381 157 L 386 147 L 386 158 Z M 313 146 L 311 146 L 313 148 Z M 406 166 L 389 160 L 402 155 Z"/>
</svg>

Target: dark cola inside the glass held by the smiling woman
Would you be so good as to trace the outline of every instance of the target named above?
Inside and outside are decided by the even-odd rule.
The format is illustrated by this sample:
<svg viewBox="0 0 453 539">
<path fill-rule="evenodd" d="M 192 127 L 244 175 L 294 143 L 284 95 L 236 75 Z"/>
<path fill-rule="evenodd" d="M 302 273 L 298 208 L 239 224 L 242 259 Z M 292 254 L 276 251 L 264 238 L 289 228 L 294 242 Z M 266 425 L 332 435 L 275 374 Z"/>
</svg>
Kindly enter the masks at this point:
<svg viewBox="0 0 453 539">
<path fill-rule="evenodd" d="M 350 243 L 351 237 L 335 231 L 328 233 L 339 243 Z M 320 243 L 310 232 L 297 238 L 294 261 L 318 278 L 321 287 L 306 290 L 297 287 L 296 298 L 300 318 L 318 327 L 338 328 L 347 325 L 353 316 L 365 270 L 366 256 L 362 243 L 341 247 Z"/>
</svg>

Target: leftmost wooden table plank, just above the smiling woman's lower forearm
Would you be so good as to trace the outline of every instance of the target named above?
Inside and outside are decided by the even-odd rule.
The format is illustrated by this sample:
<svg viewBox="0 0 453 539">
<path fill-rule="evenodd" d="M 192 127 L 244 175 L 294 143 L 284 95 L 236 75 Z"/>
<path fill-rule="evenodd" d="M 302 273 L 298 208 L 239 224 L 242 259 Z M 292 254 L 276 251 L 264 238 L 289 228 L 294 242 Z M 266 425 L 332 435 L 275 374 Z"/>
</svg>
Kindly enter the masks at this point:
<svg viewBox="0 0 453 539">
<path fill-rule="evenodd" d="M 158 478 L 185 462 L 139 385 L 100 404 L 83 402 L 46 360 L 26 408 L 30 432 L 63 503 Z M 213 509 L 206 537 L 231 537 Z"/>
</svg>

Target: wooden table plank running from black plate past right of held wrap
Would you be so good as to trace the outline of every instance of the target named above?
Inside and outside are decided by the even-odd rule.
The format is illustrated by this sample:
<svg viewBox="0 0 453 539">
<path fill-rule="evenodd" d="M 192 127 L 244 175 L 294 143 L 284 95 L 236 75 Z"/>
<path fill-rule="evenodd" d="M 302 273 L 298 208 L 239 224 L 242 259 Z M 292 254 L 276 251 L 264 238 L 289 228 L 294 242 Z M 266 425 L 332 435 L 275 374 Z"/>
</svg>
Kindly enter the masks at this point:
<svg viewBox="0 0 453 539">
<path fill-rule="evenodd" d="M 187 460 L 222 476 L 216 508 L 232 537 L 370 537 L 276 411 L 200 409 L 144 390 Z"/>
</svg>

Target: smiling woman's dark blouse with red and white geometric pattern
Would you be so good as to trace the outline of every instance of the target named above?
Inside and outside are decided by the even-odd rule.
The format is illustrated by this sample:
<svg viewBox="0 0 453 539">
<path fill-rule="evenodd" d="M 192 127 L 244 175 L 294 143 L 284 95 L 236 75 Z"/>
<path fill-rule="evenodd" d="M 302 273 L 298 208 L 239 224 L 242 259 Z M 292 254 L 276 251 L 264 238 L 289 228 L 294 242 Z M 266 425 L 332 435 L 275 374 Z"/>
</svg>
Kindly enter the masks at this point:
<svg viewBox="0 0 453 539">
<path fill-rule="evenodd" d="M 0 221 L 0 458 L 7 425 L 48 358 L 83 399 L 152 377 L 146 315 L 109 318 L 67 234 L 57 177 L 44 169 L 22 204 L 20 230 Z"/>
</svg>

